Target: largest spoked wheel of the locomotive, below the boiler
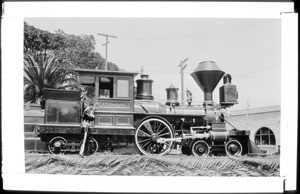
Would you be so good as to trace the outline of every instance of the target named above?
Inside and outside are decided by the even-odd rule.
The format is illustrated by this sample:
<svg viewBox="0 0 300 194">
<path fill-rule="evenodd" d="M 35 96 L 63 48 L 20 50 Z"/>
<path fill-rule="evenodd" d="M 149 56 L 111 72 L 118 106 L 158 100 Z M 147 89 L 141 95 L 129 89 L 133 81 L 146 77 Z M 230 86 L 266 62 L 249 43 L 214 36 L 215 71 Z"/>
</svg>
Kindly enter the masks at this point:
<svg viewBox="0 0 300 194">
<path fill-rule="evenodd" d="M 172 141 L 158 142 L 159 138 L 173 138 L 171 126 L 159 118 L 144 120 L 135 132 L 135 143 L 139 151 L 144 154 L 168 153 L 172 147 Z"/>
</svg>

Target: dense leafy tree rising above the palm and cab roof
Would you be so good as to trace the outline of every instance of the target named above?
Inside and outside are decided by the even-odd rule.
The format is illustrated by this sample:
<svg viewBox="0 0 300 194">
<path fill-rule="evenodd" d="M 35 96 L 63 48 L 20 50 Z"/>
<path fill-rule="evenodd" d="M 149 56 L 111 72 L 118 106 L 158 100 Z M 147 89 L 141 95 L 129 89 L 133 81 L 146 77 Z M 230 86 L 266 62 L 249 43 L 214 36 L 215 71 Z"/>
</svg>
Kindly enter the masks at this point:
<svg viewBox="0 0 300 194">
<path fill-rule="evenodd" d="M 105 60 L 95 52 L 96 41 L 92 35 L 67 34 L 62 30 L 55 33 L 40 30 L 24 23 L 24 53 L 39 54 L 52 51 L 64 60 L 69 60 L 76 68 L 104 69 Z M 108 70 L 119 71 L 116 64 L 108 62 Z"/>
</svg>

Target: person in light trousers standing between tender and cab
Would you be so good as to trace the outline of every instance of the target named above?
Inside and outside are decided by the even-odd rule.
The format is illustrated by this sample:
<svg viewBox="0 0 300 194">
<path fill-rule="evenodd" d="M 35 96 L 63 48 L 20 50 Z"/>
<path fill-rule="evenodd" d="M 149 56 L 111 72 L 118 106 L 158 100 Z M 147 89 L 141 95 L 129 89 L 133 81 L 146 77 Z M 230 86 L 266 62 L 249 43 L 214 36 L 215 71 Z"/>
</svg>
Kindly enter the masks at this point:
<svg viewBox="0 0 300 194">
<path fill-rule="evenodd" d="M 93 103 L 90 103 L 89 106 L 82 113 L 82 127 L 84 129 L 84 136 L 79 151 L 79 155 L 81 157 L 87 155 L 89 151 L 90 126 L 91 123 L 95 120 L 94 111 L 96 109 L 96 105 L 97 103 L 95 105 L 93 105 Z"/>
</svg>

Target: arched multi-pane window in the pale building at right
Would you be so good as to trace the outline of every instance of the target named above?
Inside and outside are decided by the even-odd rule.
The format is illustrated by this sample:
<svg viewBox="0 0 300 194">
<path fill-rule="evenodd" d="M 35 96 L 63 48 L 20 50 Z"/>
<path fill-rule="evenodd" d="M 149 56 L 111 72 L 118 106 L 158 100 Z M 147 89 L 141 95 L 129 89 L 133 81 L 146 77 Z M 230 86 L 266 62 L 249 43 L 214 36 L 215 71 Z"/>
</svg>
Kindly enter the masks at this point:
<svg viewBox="0 0 300 194">
<path fill-rule="evenodd" d="M 256 145 L 276 145 L 273 131 L 267 127 L 260 128 L 255 134 Z"/>
</svg>

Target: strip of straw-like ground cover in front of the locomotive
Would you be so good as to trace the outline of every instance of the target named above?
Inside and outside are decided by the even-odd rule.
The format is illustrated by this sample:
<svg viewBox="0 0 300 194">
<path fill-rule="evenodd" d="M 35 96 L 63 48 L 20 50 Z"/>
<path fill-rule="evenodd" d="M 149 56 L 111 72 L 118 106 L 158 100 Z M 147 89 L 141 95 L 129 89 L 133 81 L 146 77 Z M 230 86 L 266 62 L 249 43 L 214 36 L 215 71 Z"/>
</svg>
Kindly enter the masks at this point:
<svg viewBox="0 0 300 194">
<path fill-rule="evenodd" d="M 199 158 L 185 155 L 142 156 L 96 153 L 79 155 L 25 154 L 31 174 L 136 176 L 279 176 L 279 155 Z"/>
</svg>

